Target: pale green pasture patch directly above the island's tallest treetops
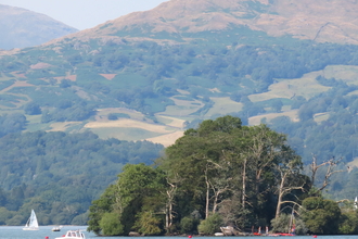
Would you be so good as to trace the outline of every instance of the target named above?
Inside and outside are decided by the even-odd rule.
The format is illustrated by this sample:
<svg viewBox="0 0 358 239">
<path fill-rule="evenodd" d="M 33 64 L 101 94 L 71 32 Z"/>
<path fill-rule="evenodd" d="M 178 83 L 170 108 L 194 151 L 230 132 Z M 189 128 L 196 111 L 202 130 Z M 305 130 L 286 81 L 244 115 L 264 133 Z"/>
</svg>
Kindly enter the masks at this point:
<svg viewBox="0 0 358 239">
<path fill-rule="evenodd" d="M 222 97 L 222 98 L 210 98 L 212 101 L 214 101 L 213 108 L 208 110 L 208 112 L 205 114 L 206 117 L 209 117 L 215 114 L 230 114 L 233 112 L 240 112 L 242 111 L 243 104 L 235 102 L 230 99 L 230 97 Z"/>
</svg>

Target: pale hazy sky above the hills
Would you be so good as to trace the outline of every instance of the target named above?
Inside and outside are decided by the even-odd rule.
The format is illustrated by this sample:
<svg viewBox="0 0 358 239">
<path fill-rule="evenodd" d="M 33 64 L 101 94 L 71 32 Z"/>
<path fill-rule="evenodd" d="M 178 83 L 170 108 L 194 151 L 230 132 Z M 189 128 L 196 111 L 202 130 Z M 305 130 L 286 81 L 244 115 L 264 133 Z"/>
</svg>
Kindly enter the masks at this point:
<svg viewBox="0 0 358 239">
<path fill-rule="evenodd" d="M 82 30 L 131 12 L 153 9 L 165 1 L 168 0 L 0 0 L 0 4 L 43 13 Z"/>
</svg>

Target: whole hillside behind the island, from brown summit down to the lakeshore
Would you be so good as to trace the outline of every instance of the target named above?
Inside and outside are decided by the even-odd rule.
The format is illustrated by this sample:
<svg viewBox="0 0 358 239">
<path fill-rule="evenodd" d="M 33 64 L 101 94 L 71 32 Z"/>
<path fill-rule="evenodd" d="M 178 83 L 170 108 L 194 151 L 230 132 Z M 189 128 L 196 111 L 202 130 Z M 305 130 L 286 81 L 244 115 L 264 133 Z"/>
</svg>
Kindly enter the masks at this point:
<svg viewBox="0 0 358 239">
<path fill-rule="evenodd" d="M 342 158 L 337 169 L 347 173 L 332 176 L 323 193 L 353 199 L 358 24 L 350 10 L 357 8 L 348 0 L 171 0 L 42 46 L 0 52 L 2 198 L 15 202 L 17 188 L 31 192 L 1 209 L 0 222 L 24 223 L 36 197 L 60 197 L 62 189 L 41 194 L 47 187 L 68 186 L 62 192 L 69 193 L 73 183 L 63 176 L 76 166 L 78 190 L 93 189 L 81 191 L 88 204 L 71 214 L 84 216 L 126 163 L 149 163 L 186 129 L 222 115 L 286 134 L 308 172 L 312 155 L 318 164 Z M 101 186 L 91 185 L 92 177 Z M 41 185 L 46 180 L 51 186 Z M 42 223 L 82 223 L 81 216 Z"/>
</svg>

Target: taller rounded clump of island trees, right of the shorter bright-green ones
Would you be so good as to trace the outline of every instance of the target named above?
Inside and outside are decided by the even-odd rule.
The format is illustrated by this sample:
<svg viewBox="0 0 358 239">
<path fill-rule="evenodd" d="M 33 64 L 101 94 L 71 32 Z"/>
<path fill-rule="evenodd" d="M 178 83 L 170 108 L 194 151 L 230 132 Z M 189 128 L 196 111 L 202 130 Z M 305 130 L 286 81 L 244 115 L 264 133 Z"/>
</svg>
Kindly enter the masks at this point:
<svg viewBox="0 0 358 239">
<path fill-rule="evenodd" d="M 285 203 L 282 199 L 304 183 L 296 180 L 301 165 L 284 135 L 265 125 L 242 126 L 241 120 L 232 116 L 204 121 L 197 129 L 188 129 L 166 149 L 161 164 L 169 183 L 176 183 L 178 197 L 192 198 L 180 212 L 194 207 L 204 218 L 220 213 L 226 223 L 243 227 L 258 218 L 269 222 L 277 206 L 280 212 Z M 292 173 L 282 177 L 280 171 Z"/>
</svg>

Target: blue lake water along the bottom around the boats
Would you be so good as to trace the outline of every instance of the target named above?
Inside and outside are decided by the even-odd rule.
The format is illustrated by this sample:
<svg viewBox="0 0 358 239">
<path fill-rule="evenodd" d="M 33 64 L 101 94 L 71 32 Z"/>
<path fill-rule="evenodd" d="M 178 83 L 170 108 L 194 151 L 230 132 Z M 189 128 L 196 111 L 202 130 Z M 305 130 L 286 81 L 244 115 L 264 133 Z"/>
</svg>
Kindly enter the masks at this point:
<svg viewBox="0 0 358 239">
<path fill-rule="evenodd" d="M 98 237 L 93 232 L 86 231 L 86 226 L 64 226 L 61 231 L 52 231 L 52 226 L 40 226 L 39 230 L 23 230 L 22 226 L 0 226 L 0 239 L 54 239 L 62 237 L 67 230 L 85 230 L 86 239 L 114 239 L 119 237 Z M 120 237 L 124 238 L 124 237 Z M 135 237 L 135 239 L 144 239 L 145 237 Z M 145 239 L 172 239 L 174 237 L 146 237 Z M 177 237 L 187 238 L 187 237 Z M 195 238 L 195 236 L 193 237 Z M 222 239 L 232 237 L 199 237 L 200 239 Z M 242 238 L 242 237 L 241 237 Z M 246 237 L 247 239 L 261 239 L 263 237 Z M 270 237 L 273 238 L 273 237 Z M 280 237 L 282 238 L 282 237 Z M 290 237 L 289 237 L 290 238 Z M 312 236 L 296 236 L 295 239 L 311 239 Z M 358 236 L 317 236 L 317 239 L 358 239 Z"/>
</svg>

